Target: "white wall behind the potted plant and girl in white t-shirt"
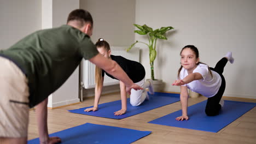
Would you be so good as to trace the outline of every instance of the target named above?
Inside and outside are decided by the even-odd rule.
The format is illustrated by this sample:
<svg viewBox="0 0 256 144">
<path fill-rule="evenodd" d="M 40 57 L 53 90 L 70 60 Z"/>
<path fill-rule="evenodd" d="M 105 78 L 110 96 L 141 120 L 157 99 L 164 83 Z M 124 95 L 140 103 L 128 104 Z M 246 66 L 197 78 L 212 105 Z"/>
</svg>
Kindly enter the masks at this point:
<svg viewBox="0 0 256 144">
<path fill-rule="evenodd" d="M 254 0 L 137 0 L 136 23 L 153 29 L 173 26 L 168 40 L 158 41 L 155 77 L 166 82 L 164 91 L 179 92 L 171 86 L 177 77 L 179 52 L 195 45 L 202 62 L 214 67 L 226 52 L 232 51 L 234 64 L 226 64 L 224 76 L 229 97 L 255 98 L 256 85 L 256 1 Z M 141 35 L 136 40 L 146 41 Z M 148 49 L 144 45 L 142 64 L 150 77 Z"/>
</svg>

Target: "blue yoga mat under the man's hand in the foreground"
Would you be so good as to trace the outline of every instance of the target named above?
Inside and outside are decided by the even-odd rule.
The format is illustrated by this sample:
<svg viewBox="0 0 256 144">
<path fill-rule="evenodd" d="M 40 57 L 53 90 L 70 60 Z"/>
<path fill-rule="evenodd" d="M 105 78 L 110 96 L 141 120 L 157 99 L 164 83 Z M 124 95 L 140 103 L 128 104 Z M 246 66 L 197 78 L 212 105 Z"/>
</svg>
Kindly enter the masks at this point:
<svg viewBox="0 0 256 144">
<path fill-rule="evenodd" d="M 107 125 L 98 125 L 85 123 L 77 127 L 69 128 L 50 134 L 49 136 L 58 136 L 63 144 L 75 143 L 132 143 L 147 136 L 152 131 L 139 131 L 134 129 L 110 127 Z M 28 144 L 39 143 L 39 138 L 28 141 Z"/>
</svg>

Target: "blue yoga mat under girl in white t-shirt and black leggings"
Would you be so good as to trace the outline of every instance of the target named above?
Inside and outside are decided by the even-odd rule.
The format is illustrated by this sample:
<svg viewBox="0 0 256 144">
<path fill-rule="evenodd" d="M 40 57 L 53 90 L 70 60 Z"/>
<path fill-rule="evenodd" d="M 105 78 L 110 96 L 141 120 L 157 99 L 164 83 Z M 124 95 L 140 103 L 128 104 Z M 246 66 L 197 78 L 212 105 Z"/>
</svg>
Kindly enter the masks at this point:
<svg viewBox="0 0 256 144">
<path fill-rule="evenodd" d="M 154 119 L 149 123 L 217 133 L 219 130 L 226 127 L 226 125 L 235 121 L 238 117 L 241 117 L 256 106 L 256 103 L 225 100 L 223 109 L 220 110 L 219 115 L 211 117 L 205 114 L 206 102 L 205 100 L 188 107 L 188 121 L 176 121 L 175 118 L 182 115 L 182 110 L 179 110 Z"/>
</svg>

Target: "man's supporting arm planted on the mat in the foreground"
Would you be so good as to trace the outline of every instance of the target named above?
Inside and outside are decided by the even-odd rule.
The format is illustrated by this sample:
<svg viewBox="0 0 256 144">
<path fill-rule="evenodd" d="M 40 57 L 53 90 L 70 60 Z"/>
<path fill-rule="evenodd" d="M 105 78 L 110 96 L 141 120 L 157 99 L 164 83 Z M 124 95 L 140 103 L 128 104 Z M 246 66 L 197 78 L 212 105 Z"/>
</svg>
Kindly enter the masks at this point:
<svg viewBox="0 0 256 144">
<path fill-rule="evenodd" d="M 48 98 L 36 106 L 36 117 L 40 143 L 59 143 L 60 137 L 49 137 L 47 127 L 47 103 Z"/>
</svg>

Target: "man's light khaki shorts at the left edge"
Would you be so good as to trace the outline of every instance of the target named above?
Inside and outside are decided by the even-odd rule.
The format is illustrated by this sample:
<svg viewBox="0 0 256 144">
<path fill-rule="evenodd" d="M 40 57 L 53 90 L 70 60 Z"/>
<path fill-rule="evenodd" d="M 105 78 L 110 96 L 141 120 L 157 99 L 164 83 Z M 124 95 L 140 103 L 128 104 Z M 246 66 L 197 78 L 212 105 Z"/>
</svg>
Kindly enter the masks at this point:
<svg viewBox="0 0 256 144">
<path fill-rule="evenodd" d="M 0 137 L 26 137 L 27 78 L 16 64 L 0 56 Z"/>
</svg>

